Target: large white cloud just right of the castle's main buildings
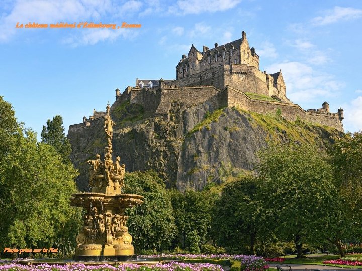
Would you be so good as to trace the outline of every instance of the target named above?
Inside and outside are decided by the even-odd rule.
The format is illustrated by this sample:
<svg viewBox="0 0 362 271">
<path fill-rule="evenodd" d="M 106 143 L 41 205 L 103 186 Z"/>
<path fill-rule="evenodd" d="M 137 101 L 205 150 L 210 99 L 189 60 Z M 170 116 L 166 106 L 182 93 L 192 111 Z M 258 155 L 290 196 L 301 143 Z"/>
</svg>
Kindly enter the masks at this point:
<svg viewBox="0 0 362 271">
<path fill-rule="evenodd" d="M 275 63 L 267 67 L 266 71 L 275 73 L 279 69 L 282 69 L 287 96 L 295 103 L 335 97 L 343 86 L 332 75 L 315 71 L 311 66 L 296 61 Z"/>
</svg>

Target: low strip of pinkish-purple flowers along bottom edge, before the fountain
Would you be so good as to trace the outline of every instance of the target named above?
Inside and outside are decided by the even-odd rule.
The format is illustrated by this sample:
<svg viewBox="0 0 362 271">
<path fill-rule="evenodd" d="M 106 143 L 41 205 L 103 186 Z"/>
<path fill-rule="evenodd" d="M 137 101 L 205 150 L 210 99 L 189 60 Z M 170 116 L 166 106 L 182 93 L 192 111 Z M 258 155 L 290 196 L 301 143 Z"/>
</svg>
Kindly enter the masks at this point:
<svg viewBox="0 0 362 271">
<path fill-rule="evenodd" d="M 85 266 L 84 264 L 72 265 L 20 265 L 16 263 L 0 265 L 1 271 L 223 271 L 221 266 L 215 264 L 188 264 L 171 262 L 167 264 L 137 265 L 122 264 L 111 266 L 108 264 Z"/>
</svg>

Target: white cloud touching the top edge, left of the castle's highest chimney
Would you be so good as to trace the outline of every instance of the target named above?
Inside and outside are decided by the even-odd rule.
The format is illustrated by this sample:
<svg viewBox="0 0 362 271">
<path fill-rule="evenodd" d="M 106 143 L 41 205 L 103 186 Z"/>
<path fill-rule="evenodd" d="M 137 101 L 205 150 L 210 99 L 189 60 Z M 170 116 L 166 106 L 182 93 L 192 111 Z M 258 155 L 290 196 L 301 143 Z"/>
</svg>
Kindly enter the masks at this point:
<svg viewBox="0 0 362 271">
<path fill-rule="evenodd" d="M 178 0 L 170 6 L 168 12 L 172 14 L 200 14 L 203 12 L 226 11 L 234 8 L 241 0 Z"/>
</svg>

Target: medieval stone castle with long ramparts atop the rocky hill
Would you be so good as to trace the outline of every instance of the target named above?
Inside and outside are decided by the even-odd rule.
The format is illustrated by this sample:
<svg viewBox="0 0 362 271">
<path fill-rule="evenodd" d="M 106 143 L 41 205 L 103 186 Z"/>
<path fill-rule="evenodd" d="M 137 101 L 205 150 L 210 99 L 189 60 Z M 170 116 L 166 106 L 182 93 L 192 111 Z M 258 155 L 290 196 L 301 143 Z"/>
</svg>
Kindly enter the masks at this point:
<svg viewBox="0 0 362 271">
<path fill-rule="evenodd" d="M 237 106 L 245 111 L 275 114 L 277 110 L 290 121 L 297 119 L 333 127 L 343 131 L 343 109 L 329 112 L 324 102 L 320 109 L 304 110 L 286 97 L 282 71 L 266 73 L 259 70 L 259 56 L 249 47 L 246 33 L 241 39 L 198 51 L 191 46 L 188 55 L 182 55 L 176 65 L 176 80 L 136 80 L 135 87 L 127 87 L 121 94 L 116 89 L 116 102 L 136 103 L 143 106 L 145 117 L 162 116 L 169 119 L 173 101 L 185 108 L 208 103 L 214 110 Z M 83 125 L 105 112 L 83 118 Z"/>
</svg>

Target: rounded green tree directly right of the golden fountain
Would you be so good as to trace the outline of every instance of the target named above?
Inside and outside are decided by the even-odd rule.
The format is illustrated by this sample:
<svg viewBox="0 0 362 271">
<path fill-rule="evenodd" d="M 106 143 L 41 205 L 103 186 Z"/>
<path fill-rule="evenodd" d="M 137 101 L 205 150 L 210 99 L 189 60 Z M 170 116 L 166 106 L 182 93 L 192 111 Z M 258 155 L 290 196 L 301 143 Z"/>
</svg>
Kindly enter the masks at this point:
<svg viewBox="0 0 362 271">
<path fill-rule="evenodd" d="M 169 249 L 177 228 L 170 195 L 154 171 L 132 172 L 125 175 L 125 193 L 144 196 L 141 206 L 127 209 L 127 222 L 136 250 Z"/>
</svg>

